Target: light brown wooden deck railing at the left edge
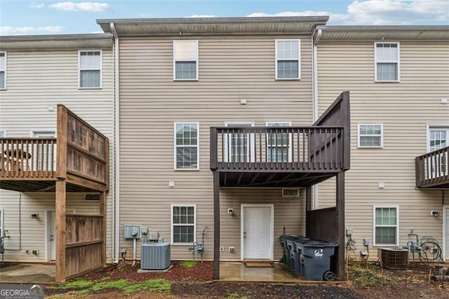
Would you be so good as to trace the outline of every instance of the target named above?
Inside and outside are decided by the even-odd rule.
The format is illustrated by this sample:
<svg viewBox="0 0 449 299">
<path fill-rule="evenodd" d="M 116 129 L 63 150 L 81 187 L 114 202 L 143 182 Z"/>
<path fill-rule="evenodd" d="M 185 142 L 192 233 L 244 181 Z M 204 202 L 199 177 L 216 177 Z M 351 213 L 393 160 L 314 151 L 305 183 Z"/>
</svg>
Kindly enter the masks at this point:
<svg viewBox="0 0 449 299">
<path fill-rule="evenodd" d="M 0 178 L 53 180 L 56 138 L 0 138 Z"/>
</svg>

